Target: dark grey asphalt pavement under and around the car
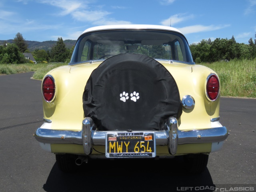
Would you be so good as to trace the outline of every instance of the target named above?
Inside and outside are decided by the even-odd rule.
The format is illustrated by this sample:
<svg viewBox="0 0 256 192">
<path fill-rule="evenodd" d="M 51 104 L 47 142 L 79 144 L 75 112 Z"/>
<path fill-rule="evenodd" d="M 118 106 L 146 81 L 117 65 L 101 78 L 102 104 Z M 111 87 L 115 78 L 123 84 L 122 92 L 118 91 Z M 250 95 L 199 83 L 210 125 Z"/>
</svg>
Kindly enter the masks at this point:
<svg viewBox="0 0 256 192">
<path fill-rule="evenodd" d="M 97 160 L 77 173 L 64 174 L 55 155 L 44 152 L 32 136 L 43 123 L 41 81 L 30 79 L 32 74 L 0 76 L 0 192 L 224 191 L 230 187 L 246 191 L 252 190 L 246 188 L 250 186 L 256 191 L 256 99 L 220 99 L 220 122 L 230 135 L 222 150 L 210 154 L 200 175 L 186 174 L 179 159 L 147 164 Z"/>
</svg>

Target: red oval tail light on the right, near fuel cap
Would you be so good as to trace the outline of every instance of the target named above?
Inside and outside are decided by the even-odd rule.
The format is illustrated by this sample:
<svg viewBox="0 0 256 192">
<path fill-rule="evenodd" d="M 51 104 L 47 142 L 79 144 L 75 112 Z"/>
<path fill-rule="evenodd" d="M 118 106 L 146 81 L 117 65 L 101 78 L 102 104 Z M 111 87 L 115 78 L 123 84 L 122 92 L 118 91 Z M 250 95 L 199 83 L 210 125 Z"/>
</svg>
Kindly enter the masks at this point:
<svg viewBox="0 0 256 192">
<path fill-rule="evenodd" d="M 215 101 L 220 93 L 220 82 L 216 74 L 210 74 L 206 83 L 206 96 L 208 100 Z"/>
</svg>

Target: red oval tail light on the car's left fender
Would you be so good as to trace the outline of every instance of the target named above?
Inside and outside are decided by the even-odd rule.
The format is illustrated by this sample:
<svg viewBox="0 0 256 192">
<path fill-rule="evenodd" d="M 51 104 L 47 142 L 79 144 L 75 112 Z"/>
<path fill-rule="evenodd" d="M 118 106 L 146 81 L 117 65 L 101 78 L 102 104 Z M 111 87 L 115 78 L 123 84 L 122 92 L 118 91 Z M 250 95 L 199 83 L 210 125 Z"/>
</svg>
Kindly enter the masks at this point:
<svg viewBox="0 0 256 192">
<path fill-rule="evenodd" d="M 55 96 L 55 83 L 52 76 L 46 76 L 42 82 L 42 94 L 47 102 L 51 102 Z"/>
</svg>

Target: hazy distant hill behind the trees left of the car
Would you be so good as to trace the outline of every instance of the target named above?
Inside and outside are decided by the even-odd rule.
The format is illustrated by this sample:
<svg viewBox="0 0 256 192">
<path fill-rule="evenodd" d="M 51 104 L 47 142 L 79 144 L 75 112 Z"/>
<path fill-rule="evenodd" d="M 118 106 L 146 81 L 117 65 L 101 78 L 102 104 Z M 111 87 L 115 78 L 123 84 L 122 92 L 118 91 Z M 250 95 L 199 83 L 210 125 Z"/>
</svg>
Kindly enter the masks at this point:
<svg viewBox="0 0 256 192">
<path fill-rule="evenodd" d="M 9 39 L 7 40 L 8 43 L 14 43 L 13 39 Z M 39 49 L 39 50 L 51 50 L 52 46 L 55 44 L 57 44 L 57 41 L 43 41 L 43 42 L 38 42 L 38 41 L 27 41 L 25 40 L 25 42 L 28 44 L 28 50 L 30 52 Z M 64 40 L 63 41 L 66 44 L 66 48 L 70 49 L 72 48 L 72 46 L 74 46 L 76 44 L 76 40 Z M 6 40 L 0 40 L 0 46 L 4 45 L 6 43 Z"/>
</svg>

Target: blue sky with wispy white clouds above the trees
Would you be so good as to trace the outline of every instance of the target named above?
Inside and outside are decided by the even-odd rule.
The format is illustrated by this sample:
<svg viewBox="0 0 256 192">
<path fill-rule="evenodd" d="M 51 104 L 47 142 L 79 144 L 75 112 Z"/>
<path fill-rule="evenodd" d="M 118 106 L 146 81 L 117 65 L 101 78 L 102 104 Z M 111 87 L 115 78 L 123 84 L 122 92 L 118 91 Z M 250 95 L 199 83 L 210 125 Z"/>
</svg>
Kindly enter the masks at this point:
<svg viewBox="0 0 256 192">
<path fill-rule="evenodd" d="M 0 40 L 76 40 L 92 26 L 156 24 L 178 28 L 189 44 L 255 39 L 256 0 L 1 0 Z"/>
</svg>

